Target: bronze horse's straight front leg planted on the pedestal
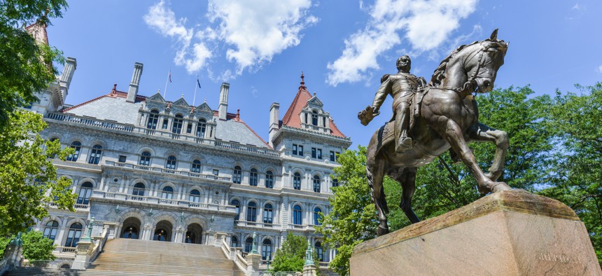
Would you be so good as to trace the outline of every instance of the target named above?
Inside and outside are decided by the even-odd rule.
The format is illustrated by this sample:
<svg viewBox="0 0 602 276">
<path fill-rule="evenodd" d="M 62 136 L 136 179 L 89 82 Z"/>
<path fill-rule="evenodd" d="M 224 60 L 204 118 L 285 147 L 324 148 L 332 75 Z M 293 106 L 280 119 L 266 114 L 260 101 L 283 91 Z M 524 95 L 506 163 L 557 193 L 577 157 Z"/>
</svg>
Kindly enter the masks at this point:
<svg viewBox="0 0 602 276">
<path fill-rule="evenodd" d="M 461 128 L 453 120 L 447 120 L 445 139 L 447 139 L 449 146 L 458 153 L 458 156 L 460 156 L 462 162 L 468 167 L 472 176 L 477 179 L 477 184 L 479 184 L 479 191 L 481 193 L 496 193 L 497 191 L 510 190 L 510 186 L 504 182 L 492 181 L 484 174 L 477 164 L 475 155 L 470 151 Z"/>
</svg>

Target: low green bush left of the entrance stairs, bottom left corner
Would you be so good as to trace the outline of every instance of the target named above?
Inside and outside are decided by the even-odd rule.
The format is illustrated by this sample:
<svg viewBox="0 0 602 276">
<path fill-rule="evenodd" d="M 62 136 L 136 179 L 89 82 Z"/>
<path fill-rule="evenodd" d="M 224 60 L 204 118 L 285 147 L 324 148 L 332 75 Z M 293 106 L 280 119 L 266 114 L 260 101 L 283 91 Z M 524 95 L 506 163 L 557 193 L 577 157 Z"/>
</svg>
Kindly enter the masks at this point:
<svg viewBox="0 0 602 276">
<path fill-rule="evenodd" d="M 13 236 L 15 237 L 15 236 Z M 55 249 L 54 241 L 44 237 L 40 231 L 31 230 L 21 235 L 23 240 L 23 258 L 28 260 L 54 260 L 52 250 Z M 0 238 L 0 256 L 3 256 L 10 238 Z"/>
</svg>

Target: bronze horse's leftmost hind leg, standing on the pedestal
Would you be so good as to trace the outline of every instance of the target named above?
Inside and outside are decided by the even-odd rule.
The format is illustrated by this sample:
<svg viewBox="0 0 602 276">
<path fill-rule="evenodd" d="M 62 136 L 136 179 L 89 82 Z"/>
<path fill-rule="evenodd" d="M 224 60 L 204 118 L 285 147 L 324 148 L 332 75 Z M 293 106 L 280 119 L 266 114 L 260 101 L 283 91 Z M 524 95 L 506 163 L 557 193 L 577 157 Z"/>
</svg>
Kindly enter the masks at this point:
<svg viewBox="0 0 602 276">
<path fill-rule="evenodd" d="M 378 219 L 380 221 L 377 229 L 377 235 L 379 236 L 388 233 L 386 221 L 388 207 L 386 206 L 383 186 L 384 162 L 384 159 L 377 156 L 374 158 L 374 162 L 370 162 L 366 165 L 366 178 L 368 185 L 370 185 L 370 189 L 372 189 L 372 201 L 374 201 L 374 207 L 377 209 Z"/>
</svg>

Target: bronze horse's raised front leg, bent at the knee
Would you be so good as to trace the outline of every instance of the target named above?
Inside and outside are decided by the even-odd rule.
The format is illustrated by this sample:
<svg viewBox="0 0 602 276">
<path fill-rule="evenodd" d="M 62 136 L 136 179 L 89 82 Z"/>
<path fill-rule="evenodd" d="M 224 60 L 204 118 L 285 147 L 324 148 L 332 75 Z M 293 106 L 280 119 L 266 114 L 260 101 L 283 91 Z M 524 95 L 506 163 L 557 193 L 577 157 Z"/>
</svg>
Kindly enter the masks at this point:
<svg viewBox="0 0 602 276">
<path fill-rule="evenodd" d="M 468 136 L 471 141 L 493 142 L 493 144 L 496 144 L 496 156 L 493 157 L 493 163 L 485 176 L 489 177 L 492 181 L 498 180 L 502 175 L 504 162 L 506 160 L 506 152 L 508 146 L 510 146 L 508 134 L 503 130 L 496 130 L 483 125 L 482 123 L 478 123 L 477 125 L 470 127 Z"/>
</svg>

